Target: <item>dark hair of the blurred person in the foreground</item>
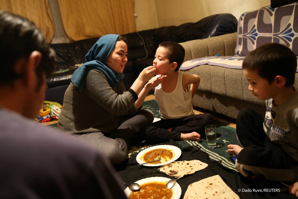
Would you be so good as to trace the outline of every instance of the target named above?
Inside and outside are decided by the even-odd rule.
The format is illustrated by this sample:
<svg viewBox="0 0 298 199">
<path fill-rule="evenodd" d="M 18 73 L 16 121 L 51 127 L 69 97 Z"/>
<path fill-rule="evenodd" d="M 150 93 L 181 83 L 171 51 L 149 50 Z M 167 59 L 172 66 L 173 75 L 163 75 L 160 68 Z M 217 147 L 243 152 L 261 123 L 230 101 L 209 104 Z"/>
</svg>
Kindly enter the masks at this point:
<svg viewBox="0 0 298 199">
<path fill-rule="evenodd" d="M 42 74 L 49 76 L 55 68 L 54 51 L 34 23 L 10 12 L 0 11 L 0 84 L 13 82 L 23 74 L 15 72 L 15 64 L 27 58 L 33 51 L 41 53 L 41 61 L 36 67 L 38 83 Z"/>
</svg>

